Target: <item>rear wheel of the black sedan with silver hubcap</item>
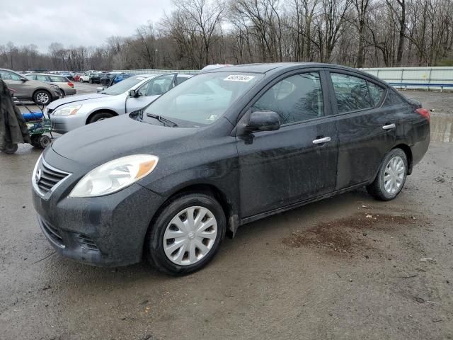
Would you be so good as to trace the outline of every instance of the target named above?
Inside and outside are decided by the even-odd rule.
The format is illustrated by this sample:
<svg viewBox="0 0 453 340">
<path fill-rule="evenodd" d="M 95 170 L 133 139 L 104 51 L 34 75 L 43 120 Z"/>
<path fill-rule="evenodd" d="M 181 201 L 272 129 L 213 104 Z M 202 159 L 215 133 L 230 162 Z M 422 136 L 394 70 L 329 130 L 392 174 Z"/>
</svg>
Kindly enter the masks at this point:
<svg viewBox="0 0 453 340">
<path fill-rule="evenodd" d="M 393 149 L 384 157 L 376 179 L 367 186 L 367 191 L 379 200 L 393 200 L 403 189 L 407 174 L 406 154 L 402 149 Z"/>
</svg>

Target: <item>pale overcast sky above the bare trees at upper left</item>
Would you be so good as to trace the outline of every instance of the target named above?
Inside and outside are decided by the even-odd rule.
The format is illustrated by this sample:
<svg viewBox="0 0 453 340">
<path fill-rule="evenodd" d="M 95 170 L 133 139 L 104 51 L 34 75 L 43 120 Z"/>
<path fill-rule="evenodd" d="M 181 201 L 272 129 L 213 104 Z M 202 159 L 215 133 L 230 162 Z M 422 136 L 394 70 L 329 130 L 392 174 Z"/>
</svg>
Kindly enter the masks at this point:
<svg viewBox="0 0 453 340">
<path fill-rule="evenodd" d="M 102 45 L 110 35 L 133 35 L 171 9 L 171 0 L 0 0 L 0 45 L 35 44 L 40 52 L 52 42 Z"/>
</svg>

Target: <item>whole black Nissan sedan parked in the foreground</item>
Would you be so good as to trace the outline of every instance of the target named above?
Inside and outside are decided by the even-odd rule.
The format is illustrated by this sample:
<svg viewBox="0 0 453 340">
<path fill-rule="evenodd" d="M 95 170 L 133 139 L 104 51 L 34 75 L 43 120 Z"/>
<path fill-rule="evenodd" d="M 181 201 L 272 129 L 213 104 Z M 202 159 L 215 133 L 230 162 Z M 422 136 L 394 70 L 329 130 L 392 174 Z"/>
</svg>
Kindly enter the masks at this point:
<svg viewBox="0 0 453 340">
<path fill-rule="evenodd" d="M 395 198 L 428 149 L 429 121 L 356 69 L 214 69 L 59 137 L 33 171 L 33 203 L 64 256 L 101 266 L 145 257 L 181 275 L 248 222 L 360 186 Z"/>
</svg>

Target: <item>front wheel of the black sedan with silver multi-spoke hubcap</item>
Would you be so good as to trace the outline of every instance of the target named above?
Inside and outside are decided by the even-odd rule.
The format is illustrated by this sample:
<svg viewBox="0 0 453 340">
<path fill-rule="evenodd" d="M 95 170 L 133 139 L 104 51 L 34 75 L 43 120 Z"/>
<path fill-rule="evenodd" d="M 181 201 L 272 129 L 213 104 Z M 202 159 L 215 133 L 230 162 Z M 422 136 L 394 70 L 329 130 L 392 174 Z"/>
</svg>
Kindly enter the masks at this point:
<svg viewBox="0 0 453 340">
<path fill-rule="evenodd" d="M 164 273 L 193 273 L 212 260 L 225 230 L 225 214 L 217 200 L 204 193 L 178 196 L 149 227 L 145 256 Z"/>
</svg>

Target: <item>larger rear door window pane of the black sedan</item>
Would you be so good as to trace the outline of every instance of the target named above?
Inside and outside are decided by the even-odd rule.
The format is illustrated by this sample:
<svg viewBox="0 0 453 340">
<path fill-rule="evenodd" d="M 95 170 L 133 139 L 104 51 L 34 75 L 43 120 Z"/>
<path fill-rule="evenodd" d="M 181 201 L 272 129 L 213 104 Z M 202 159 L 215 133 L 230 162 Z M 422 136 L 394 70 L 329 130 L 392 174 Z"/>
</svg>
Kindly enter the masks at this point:
<svg viewBox="0 0 453 340">
<path fill-rule="evenodd" d="M 331 73 L 338 113 L 372 108 L 367 81 L 348 74 Z"/>
</svg>

